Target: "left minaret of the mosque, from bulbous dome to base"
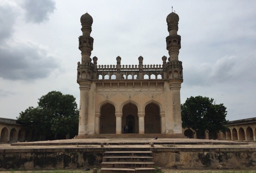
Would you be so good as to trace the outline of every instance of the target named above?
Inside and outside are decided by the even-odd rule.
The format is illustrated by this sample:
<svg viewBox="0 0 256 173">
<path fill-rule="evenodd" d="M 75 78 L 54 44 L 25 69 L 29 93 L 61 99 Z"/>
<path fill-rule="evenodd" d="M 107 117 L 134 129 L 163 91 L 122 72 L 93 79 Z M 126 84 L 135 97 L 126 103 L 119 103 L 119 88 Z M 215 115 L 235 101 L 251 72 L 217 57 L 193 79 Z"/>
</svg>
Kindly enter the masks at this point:
<svg viewBox="0 0 256 173">
<path fill-rule="evenodd" d="M 79 49 L 82 55 L 81 63 L 77 63 L 77 83 L 80 89 L 80 108 L 79 108 L 79 128 L 78 135 L 88 134 L 88 103 L 89 90 L 93 79 L 93 63 L 91 51 L 93 50 L 93 38 L 90 36 L 92 32 L 93 18 L 85 13 L 80 18 L 82 25 L 82 35 L 79 37 Z M 94 58 L 94 61 L 97 61 Z"/>
</svg>

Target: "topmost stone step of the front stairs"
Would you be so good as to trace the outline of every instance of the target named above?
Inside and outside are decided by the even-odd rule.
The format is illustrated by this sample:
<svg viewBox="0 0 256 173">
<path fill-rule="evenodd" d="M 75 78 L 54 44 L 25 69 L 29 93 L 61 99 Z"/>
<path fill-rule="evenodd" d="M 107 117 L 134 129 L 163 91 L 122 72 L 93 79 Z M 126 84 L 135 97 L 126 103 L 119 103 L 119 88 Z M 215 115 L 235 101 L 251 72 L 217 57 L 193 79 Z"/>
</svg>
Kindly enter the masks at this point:
<svg viewBox="0 0 256 173">
<path fill-rule="evenodd" d="M 109 151 L 104 156 L 152 156 L 151 151 Z"/>
</svg>

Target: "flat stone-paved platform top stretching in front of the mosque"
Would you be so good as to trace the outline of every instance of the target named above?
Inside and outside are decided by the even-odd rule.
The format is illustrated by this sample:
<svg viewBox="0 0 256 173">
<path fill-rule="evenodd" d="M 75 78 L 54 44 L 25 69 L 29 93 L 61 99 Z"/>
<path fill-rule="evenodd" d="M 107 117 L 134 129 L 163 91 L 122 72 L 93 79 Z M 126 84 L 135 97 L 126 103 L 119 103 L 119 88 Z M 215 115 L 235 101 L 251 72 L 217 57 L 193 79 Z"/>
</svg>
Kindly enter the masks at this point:
<svg viewBox="0 0 256 173">
<path fill-rule="evenodd" d="M 154 148 L 247 148 L 256 150 L 256 143 L 224 141 L 224 140 L 199 140 L 199 139 L 70 139 L 36 142 L 20 142 L 1 144 L 0 149 L 56 149 L 56 148 L 150 148 L 149 143 L 154 143 Z M 106 145 L 109 143 L 110 145 Z"/>
</svg>

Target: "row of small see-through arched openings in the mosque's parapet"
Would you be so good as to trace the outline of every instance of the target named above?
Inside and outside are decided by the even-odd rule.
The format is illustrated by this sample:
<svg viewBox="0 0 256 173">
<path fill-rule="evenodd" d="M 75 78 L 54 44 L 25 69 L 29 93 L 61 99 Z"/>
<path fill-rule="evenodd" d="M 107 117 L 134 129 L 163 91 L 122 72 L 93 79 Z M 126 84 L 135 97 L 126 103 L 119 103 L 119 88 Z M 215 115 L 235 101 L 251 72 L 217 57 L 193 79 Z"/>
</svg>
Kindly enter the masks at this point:
<svg viewBox="0 0 256 173">
<path fill-rule="evenodd" d="M 98 75 L 98 79 L 116 79 L 116 75 Z M 138 79 L 138 75 L 125 75 L 123 74 L 121 76 L 121 79 Z M 143 76 L 143 79 L 162 79 L 162 75 L 161 74 L 158 74 L 158 75 L 144 75 Z"/>
</svg>

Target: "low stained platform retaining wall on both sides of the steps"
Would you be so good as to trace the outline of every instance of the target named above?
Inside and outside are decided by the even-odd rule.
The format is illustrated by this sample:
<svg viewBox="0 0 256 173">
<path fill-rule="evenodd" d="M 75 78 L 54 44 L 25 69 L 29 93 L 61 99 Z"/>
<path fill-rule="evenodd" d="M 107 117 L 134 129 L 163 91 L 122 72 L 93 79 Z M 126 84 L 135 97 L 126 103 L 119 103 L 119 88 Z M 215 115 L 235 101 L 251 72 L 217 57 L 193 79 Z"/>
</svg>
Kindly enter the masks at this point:
<svg viewBox="0 0 256 173">
<path fill-rule="evenodd" d="M 0 150 L 0 169 L 100 167 L 103 153 L 109 149 L 2 149 Z M 118 151 L 125 151 L 125 149 L 127 148 L 116 148 Z M 155 165 L 159 167 L 256 169 L 255 148 L 143 148 L 142 150 L 151 150 Z"/>
</svg>

